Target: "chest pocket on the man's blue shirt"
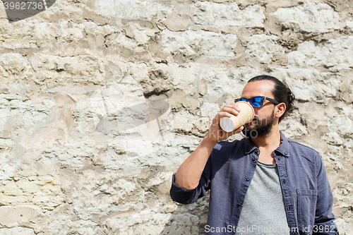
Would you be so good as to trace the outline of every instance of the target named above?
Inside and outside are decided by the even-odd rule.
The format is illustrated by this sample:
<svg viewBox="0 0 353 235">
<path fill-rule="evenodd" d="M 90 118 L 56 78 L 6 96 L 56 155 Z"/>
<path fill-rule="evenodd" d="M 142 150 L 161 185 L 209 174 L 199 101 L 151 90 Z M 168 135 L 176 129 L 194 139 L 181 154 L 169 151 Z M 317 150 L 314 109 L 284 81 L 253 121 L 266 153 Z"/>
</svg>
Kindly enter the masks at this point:
<svg viewBox="0 0 353 235">
<path fill-rule="evenodd" d="M 317 190 L 297 189 L 298 226 L 303 234 L 311 234 L 315 222 Z"/>
</svg>

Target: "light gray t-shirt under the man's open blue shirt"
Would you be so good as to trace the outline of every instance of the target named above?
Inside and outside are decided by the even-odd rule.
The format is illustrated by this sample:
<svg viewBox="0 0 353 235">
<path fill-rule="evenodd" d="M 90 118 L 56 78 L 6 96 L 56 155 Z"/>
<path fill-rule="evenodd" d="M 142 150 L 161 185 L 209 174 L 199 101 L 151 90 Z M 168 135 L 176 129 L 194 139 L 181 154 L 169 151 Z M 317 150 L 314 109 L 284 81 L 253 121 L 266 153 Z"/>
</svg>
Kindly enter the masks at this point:
<svg viewBox="0 0 353 235">
<path fill-rule="evenodd" d="M 258 162 L 245 195 L 236 234 L 289 235 L 277 164 Z"/>
</svg>

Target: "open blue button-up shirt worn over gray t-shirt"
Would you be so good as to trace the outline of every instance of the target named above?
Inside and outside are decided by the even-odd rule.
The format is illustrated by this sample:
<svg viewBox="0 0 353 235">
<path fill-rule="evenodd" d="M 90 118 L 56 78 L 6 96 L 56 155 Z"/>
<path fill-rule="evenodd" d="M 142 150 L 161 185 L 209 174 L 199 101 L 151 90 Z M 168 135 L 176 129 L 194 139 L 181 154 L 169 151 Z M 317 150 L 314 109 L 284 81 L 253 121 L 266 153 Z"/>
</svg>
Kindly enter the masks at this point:
<svg viewBox="0 0 353 235">
<path fill-rule="evenodd" d="M 210 190 L 206 233 L 234 234 L 259 155 L 260 150 L 249 138 L 217 143 L 197 188 L 186 190 L 177 186 L 173 175 L 172 200 L 194 203 Z M 318 152 L 287 140 L 281 133 L 281 144 L 273 151 L 273 157 L 290 234 L 338 234 L 333 222 L 333 194 Z"/>
</svg>

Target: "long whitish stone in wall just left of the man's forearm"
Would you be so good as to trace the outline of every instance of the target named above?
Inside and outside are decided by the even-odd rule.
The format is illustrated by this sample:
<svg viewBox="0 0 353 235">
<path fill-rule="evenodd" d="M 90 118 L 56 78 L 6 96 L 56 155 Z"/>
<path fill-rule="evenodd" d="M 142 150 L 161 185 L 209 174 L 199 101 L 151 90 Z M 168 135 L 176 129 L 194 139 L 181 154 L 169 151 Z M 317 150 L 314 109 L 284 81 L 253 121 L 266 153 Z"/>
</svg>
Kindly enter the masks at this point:
<svg viewBox="0 0 353 235">
<path fill-rule="evenodd" d="M 171 140 L 116 137 L 108 143 L 102 164 L 106 169 L 120 170 L 129 176 L 140 174 L 144 166 L 171 166 L 180 162 L 189 151 L 195 150 L 198 140 L 187 140 L 178 135 Z"/>
</svg>

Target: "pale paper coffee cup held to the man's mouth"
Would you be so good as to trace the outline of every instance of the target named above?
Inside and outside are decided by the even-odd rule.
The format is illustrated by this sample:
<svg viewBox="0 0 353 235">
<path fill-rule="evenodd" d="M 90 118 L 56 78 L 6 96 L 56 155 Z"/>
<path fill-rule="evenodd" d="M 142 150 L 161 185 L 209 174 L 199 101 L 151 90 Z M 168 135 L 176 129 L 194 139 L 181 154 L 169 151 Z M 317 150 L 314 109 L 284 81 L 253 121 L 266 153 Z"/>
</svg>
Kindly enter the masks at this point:
<svg viewBox="0 0 353 235">
<path fill-rule="evenodd" d="M 248 102 L 239 101 L 237 102 L 240 112 L 237 116 L 232 115 L 229 117 L 224 117 L 220 119 L 220 126 L 223 131 L 232 132 L 235 129 L 249 123 L 253 120 L 255 112 L 253 112 L 253 107 Z"/>
</svg>

